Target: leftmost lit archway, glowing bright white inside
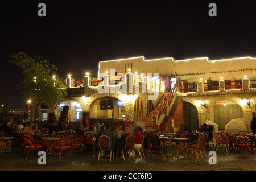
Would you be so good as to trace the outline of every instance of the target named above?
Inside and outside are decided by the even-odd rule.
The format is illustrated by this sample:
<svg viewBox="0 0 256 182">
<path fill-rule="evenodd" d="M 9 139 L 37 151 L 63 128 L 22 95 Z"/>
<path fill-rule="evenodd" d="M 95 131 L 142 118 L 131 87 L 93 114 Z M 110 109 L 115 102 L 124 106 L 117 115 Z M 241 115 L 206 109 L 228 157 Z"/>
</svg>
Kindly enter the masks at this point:
<svg viewBox="0 0 256 182">
<path fill-rule="evenodd" d="M 82 105 L 73 99 L 66 99 L 57 106 L 57 114 L 61 123 L 65 121 L 82 121 Z"/>
</svg>

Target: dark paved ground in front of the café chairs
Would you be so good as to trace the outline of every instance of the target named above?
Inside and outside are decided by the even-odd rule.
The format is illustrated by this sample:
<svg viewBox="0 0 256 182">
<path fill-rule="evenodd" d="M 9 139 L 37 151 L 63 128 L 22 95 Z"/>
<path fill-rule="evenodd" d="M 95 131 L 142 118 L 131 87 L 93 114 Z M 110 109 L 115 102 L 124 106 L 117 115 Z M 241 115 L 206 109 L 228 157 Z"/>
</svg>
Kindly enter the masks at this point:
<svg viewBox="0 0 256 182">
<path fill-rule="evenodd" d="M 213 147 L 207 148 L 207 152 L 213 150 Z M 59 160 L 58 156 L 47 154 L 46 165 L 39 165 L 37 155 L 29 156 L 26 160 L 23 157 L 22 146 L 14 146 L 13 154 L 2 154 L 0 157 L 0 170 L 2 171 L 253 171 L 256 170 L 256 150 L 254 154 L 237 153 L 233 151 L 226 155 L 225 150 L 217 152 L 217 164 L 210 165 L 208 158 L 197 161 L 195 155 L 187 159 L 181 158 L 174 160 L 174 155 L 171 153 L 162 156 L 150 155 L 142 159 L 135 156 L 129 158 L 126 162 L 121 159 L 114 159 L 109 162 L 109 159 L 100 159 L 97 162 L 97 157 L 92 158 L 92 150 L 84 148 L 83 154 L 73 154 L 73 156 L 63 156 Z M 208 153 L 207 153 L 208 154 Z"/>
</svg>

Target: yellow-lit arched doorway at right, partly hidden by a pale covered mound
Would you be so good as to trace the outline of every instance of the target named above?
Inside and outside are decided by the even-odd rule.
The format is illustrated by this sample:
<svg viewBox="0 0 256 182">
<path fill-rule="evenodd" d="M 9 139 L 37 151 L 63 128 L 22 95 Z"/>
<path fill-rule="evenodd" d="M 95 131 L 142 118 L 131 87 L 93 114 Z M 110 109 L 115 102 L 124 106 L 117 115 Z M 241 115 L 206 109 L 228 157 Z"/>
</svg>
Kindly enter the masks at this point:
<svg viewBox="0 0 256 182">
<path fill-rule="evenodd" d="M 232 101 L 217 101 L 213 105 L 214 122 L 218 129 L 224 130 L 225 125 L 235 118 L 243 118 L 243 111 L 240 105 Z"/>
</svg>

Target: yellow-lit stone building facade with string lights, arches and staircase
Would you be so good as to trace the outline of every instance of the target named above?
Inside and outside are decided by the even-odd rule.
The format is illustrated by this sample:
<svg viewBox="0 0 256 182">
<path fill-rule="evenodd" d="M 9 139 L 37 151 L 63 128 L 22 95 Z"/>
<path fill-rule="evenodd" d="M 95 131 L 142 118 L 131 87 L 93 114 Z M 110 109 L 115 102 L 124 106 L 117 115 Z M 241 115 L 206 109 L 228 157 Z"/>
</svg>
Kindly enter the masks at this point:
<svg viewBox="0 0 256 182">
<path fill-rule="evenodd" d="M 150 129 L 154 114 L 156 124 L 168 126 L 168 131 L 181 123 L 197 129 L 207 119 L 223 129 L 239 117 L 250 126 L 256 102 L 255 63 L 251 57 L 147 60 L 142 56 L 101 61 L 97 78 L 87 74 L 76 82 L 71 75 L 66 79 L 67 99 L 77 102 L 68 104 L 69 120 L 82 121 L 88 115 L 116 122 L 126 117 Z M 180 86 L 171 90 L 176 82 Z M 56 114 L 61 113 L 61 102 L 65 101 L 60 101 Z"/>
</svg>

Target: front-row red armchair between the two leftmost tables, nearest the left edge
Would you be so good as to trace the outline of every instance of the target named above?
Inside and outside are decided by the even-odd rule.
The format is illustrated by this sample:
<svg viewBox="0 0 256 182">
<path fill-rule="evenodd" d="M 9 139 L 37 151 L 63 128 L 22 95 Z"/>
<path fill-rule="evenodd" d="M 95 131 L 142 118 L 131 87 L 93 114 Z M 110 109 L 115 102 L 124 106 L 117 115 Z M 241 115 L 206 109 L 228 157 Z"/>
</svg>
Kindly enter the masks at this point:
<svg viewBox="0 0 256 182">
<path fill-rule="evenodd" d="M 28 155 L 30 155 L 31 151 L 37 150 L 41 151 L 43 150 L 43 144 L 40 140 L 35 140 L 33 135 L 29 133 L 23 133 L 22 134 L 23 142 L 24 142 L 24 156 L 26 156 L 26 159 L 28 158 Z"/>
</svg>

